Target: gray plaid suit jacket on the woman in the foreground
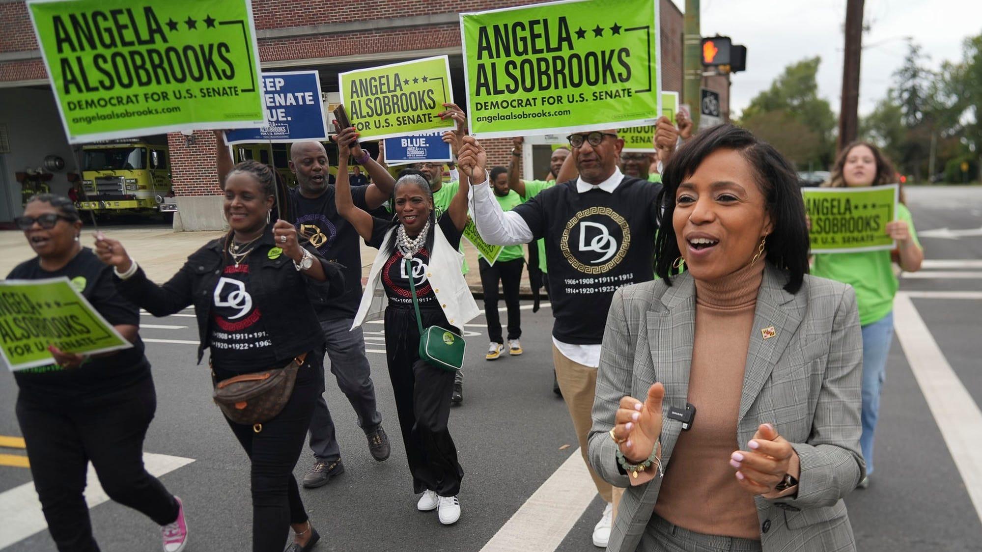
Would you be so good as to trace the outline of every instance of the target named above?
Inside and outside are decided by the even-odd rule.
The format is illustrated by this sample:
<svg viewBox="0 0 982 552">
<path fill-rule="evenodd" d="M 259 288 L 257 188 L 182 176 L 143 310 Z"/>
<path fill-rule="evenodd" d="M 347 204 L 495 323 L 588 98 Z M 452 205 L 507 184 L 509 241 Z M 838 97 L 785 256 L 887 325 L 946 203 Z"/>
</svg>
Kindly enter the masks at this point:
<svg viewBox="0 0 982 552">
<path fill-rule="evenodd" d="M 801 476 L 793 498 L 757 496 L 761 546 L 765 552 L 855 550 L 843 497 L 865 472 L 859 449 L 862 335 L 852 288 L 804 277 L 794 295 L 787 276 L 768 264 L 757 295 L 749 336 L 737 438 L 746 443 L 764 422 L 791 442 Z M 760 329 L 774 326 L 763 339 Z M 621 288 L 607 318 L 593 427 L 590 465 L 601 477 L 627 490 L 611 531 L 608 550 L 636 549 L 658 501 L 661 478 L 630 486 L 618 469 L 616 446 L 608 435 L 625 395 L 641 400 L 655 381 L 665 385 L 664 412 L 684 408 L 695 329 L 695 283 L 688 273 L 673 285 L 655 280 Z M 698 405 L 696 405 L 698 408 Z M 698 414 L 695 423 L 699 422 Z M 664 418 L 662 464 L 672 464 L 682 422 Z"/>
</svg>

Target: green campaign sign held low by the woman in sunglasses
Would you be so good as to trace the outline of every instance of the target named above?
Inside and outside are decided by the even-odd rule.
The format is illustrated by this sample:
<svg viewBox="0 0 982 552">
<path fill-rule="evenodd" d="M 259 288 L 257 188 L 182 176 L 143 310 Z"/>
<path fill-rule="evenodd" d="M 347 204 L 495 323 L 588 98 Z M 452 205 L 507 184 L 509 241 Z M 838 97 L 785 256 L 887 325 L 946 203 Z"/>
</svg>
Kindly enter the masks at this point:
<svg viewBox="0 0 982 552">
<path fill-rule="evenodd" d="M 10 369 L 53 364 L 51 345 L 86 355 L 133 347 L 68 278 L 0 281 L 0 355 Z"/>
</svg>

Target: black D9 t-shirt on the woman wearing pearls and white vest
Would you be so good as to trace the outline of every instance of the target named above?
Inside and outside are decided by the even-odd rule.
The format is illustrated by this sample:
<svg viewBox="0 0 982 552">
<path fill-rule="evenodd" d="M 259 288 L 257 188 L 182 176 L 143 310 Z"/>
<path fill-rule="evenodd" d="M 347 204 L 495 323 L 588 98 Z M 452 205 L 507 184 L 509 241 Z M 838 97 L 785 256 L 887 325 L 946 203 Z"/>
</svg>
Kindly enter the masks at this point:
<svg viewBox="0 0 982 552">
<path fill-rule="evenodd" d="M 391 244 L 384 243 L 385 235 L 389 230 L 398 226 L 399 223 L 381 218 L 375 218 L 373 220 L 375 226 L 372 228 L 371 240 L 366 243 L 373 248 L 385 248 L 385 250 L 389 250 Z M 441 216 L 437 225 L 439 230 L 443 231 L 443 235 L 447 238 L 447 241 L 450 242 L 450 246 L 454 249 L 460 248 L 461 232 L 454 226 L 454 221 L 451 220 L 450 215 L 445 214 Z M 395 239 L 396 233 L 393 232 L 392 240 Z M 426 277 L 426 274 L 429 272 L 429 259 L 430 250 L 424 247 L 412 256 L 411 261 L 412 283 L 416 287 L 416 300 L 419 302 L 420 307 L 439 306 L 436 303 L 436 296 L 433 295 L 433 287 L 430 285 L 429 278 Z M 409 271 L 406 265 L 407 262 L 403 258 L 403 253 L 399 252 L 397 248 L 389 255 L 389 258 L 382 266 L 382 286 L 385 288 L 385 295 L 389 298 L 389 304 L 412 306 L 412 290 L 409 288 Z"/>
</svg>

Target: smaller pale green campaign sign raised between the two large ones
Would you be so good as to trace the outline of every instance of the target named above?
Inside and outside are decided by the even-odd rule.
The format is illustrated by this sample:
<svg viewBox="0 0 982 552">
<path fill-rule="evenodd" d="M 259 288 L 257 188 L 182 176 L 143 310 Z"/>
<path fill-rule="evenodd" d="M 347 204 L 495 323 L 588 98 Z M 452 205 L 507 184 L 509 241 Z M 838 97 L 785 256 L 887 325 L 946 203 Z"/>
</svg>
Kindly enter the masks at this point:
<svg viewBox="0 0 982 552">
<path fill-rule="evenodd" d="M 338 84 L 359 141 L 456 128 L 437 117 L 443 104 L 454 103 L 447 56 L 349 71 L 338 75 Z"/>
</svg>

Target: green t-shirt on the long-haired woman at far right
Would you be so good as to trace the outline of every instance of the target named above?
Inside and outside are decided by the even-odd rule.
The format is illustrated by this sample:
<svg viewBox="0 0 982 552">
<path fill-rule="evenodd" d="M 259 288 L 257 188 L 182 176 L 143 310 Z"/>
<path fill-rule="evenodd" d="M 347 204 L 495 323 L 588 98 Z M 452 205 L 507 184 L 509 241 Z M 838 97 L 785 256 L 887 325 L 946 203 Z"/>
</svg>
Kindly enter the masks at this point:
<svg viewBox="0 0 982 552">
<path fill-rule="evenodd" d="M 910 211 L 897 204 L 897 220 L 910 227 L 910 237 L 920 247 Z M 861 251 L 855 253 L 818 253 L 811 268 L 812 276 L 837 280 L 852 286 L 859 307 L 859 324 L 865 326 L 890 314 L 900 281 L 894 274 L 891 251 Z"/>
</svg>

